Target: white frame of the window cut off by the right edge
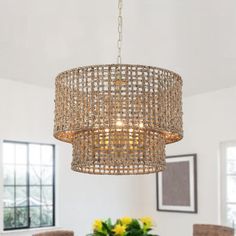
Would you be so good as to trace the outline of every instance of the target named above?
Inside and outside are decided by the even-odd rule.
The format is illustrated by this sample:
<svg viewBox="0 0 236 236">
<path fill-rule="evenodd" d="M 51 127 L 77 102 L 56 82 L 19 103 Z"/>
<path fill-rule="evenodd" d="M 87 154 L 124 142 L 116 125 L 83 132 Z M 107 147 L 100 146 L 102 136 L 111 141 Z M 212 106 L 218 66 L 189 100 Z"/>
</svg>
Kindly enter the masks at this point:
<svg viewBox="0 0 236 236">
<path fill-rule="evenodd" d="M 227 201 L 227 148 L 235 147 L 236 141 L 226 141 L 220 144 L 220 222 L 234 228 L 236 222 L 228 222 L 227 205 L 232 204 Z M 236 176 L 236 174 L 235 174 Z M 236 205 L 236 202 L 233 203 Z"/>
</svg>

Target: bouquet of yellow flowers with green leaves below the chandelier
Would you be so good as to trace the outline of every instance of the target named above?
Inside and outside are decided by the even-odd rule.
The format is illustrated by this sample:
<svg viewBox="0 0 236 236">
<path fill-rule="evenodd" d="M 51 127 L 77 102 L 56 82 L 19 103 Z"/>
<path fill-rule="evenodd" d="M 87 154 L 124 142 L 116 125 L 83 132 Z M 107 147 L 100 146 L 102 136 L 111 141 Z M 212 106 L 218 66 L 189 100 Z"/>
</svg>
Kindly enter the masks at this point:
<svg viewBox="0 0 236 236">
<path fill-rule="evenodd" d="M 153 221 L 150 217 L 132 219 L 123 217 L 112 224 L 111 219 L 102 221 L 95 220 L 93 233 L 88 236 L 158 236 L 150 233 Z"/>
</svg>

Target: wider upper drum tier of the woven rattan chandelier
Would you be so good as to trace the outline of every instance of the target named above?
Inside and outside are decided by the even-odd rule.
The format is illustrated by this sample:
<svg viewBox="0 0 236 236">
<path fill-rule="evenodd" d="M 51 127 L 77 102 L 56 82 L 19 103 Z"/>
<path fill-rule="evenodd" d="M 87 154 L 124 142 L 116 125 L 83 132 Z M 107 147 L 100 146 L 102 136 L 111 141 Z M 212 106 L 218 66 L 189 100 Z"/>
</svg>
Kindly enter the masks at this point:
<svg viewBox="0 0 236 236">
<path fill-rule="evenodd" d="M 143 65 L 94 65 L 56 78 L 55 138 L 72 143 L 79 132 L 141 129 L 165 143 L 182 130 L 182 79 L 169 70 Z"/>
</svg>

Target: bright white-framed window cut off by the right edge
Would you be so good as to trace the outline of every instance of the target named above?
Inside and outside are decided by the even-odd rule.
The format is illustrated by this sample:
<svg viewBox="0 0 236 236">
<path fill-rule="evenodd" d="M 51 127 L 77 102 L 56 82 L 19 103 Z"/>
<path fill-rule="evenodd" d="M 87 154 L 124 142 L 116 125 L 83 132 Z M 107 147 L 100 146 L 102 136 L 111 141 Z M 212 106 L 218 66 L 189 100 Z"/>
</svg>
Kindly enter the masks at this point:
<svg viewBox="0 0 236 236">
<path fill-rule="evenodd" d="M 236 223 L 236 142 L 221 146 L 221 211 L 222 223 Z"/>
</svg>

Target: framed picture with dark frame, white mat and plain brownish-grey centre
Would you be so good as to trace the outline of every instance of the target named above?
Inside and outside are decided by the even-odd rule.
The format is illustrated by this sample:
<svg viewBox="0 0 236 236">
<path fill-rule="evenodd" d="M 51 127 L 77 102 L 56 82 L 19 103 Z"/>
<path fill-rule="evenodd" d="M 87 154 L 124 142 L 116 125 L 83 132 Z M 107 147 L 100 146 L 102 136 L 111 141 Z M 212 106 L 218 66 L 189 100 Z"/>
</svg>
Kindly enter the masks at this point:
<svg viewBox="0 0 236 236">
<path fill-rule="evenodd" d="M 197 213 L 197 154 L 166 157 L 156 183 L 158 211 Z"/>
</svg>

